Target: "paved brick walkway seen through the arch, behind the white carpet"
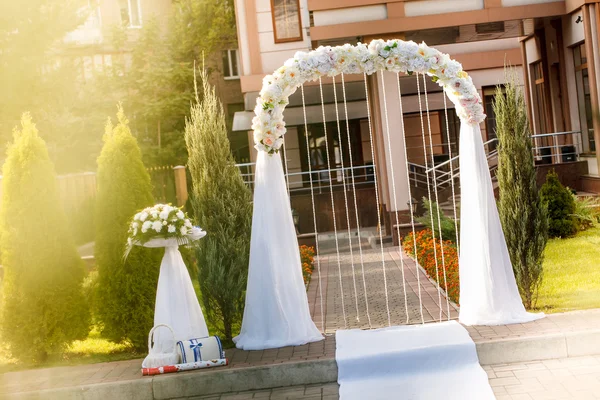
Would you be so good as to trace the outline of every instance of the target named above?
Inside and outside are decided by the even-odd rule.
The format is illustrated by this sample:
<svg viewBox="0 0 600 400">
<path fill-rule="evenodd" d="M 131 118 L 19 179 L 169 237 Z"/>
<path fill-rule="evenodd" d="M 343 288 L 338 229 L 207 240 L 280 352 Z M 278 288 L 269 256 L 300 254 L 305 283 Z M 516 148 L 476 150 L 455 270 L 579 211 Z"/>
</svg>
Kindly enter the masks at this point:
<svg viewBox="0 0 600 400">
<path fill-rule="evenodd" d="M 330 254 L 315 264 L 308 302 L 317 327 L 326 333 L 458 318 L 456 306 L 397 247 L 384 248 L 383 257 L 380 249 L 363 250 L 362 263 L 356 249 L 340 254 L 339 263 Z"/>
</svg>

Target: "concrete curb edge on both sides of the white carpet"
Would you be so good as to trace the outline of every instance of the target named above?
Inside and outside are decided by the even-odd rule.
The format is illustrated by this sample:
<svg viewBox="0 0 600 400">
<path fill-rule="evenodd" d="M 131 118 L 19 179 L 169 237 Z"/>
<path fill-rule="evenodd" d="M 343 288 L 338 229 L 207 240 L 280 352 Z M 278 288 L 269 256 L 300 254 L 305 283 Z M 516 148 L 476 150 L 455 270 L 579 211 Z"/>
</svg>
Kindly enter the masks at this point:
<svg viewBox="0 0 600 400">
<path fill-rule="evenodd" d="M 476 347 L 482 365 L 596 355 L 600 354 L 600 330 L 492 340 L 476 343 Z M 167 400 L 336 381 L 335 360 L 321 359 L 259 367 L 215 369 L 202 373 L 169 374 L 148 379 L 16 393 L 3 398 Z"/>
</svg>

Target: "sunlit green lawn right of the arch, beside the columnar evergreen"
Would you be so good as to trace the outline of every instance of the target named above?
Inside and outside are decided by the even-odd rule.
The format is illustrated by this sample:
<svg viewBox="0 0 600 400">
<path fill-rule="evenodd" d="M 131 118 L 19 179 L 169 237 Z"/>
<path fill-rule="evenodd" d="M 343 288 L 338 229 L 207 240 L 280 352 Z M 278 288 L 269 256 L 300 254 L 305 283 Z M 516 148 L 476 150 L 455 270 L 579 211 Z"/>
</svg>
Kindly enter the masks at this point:
<svg viewBox="0 0 600 400">
<path fill-rule="evenodd" d="M 563 312 L 600 308 L 600 226 L 548 241 L 537 308 Z"/>
</svg>

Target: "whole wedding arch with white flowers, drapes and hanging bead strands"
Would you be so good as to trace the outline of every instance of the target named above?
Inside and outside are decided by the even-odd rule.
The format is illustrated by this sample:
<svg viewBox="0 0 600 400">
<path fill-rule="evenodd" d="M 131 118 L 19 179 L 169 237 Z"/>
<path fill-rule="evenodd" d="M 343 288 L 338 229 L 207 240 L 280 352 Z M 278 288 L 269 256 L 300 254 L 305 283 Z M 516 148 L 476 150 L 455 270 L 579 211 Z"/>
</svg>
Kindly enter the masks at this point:
<svg viewBox="0 0 600 400">
<path fill-rule="evenodd" d="M 454 104 L 460 118 L 462 203 L 459 262 L 460 321 L 465 324 L 507 324 L 526 322 L 540 317 L 537 314 L 527 313 L 521 303 L 498 217 L 479 128 L 479 124 L 485 119 L 485 114 L 481 98 L 471 77 L 463 71 L 459 62 L 424 43 L 373 40 L 369 45 L 358 43 L 337 47 L 325 46 L 310 52 L 298 52 L 263 80 L 263 88 L 257 99 L 256 116 L 252 124 L 258 155 L 254 179 L 254 214 L 246 308 L 241 333 L 235 338 L 238 347 L 250 350 L 265 349 L 300 345 L 322 339 L 321 332 L 312 321 L 308 308 L 290 197 L 286 188 L 281 157 L 278 155 L 281 147 L 284 146 L 286 132 L 284 110 L 289 103 L 289 97 L 301 88 L 306 123 L 304 83 L 318 80 L 322 100 L 322 77 L 335 79 L 340 75 L 343 84 L 344 75 L 362 74 L 365 80 L 367 112 L 369 112 L 366 77 L 377 72 L 382 78 L 384 72 L 398 75 L 396 80 L 400 113 L 402 113 L 402 103 L 399 77 L 400 74 L 406 74 L 415 75 L 417 87 L 420 88 L 422 84 L 424 90 L 426 90 L 426 77 L 437 82 Z M 337 96 L 336 93 L 334 88 L 334 96 Z M 337 114 L 337 97 L 335 101 Z M 345 101 L 344 91 L 344 106 Z M 426 92 L 425 102 L 427 102 Z M 419 105 L 422 113 L 420 92 Z M 426 106 L 427 116 L 429 116 L 428 104 Z M 324 108 L 322 112 L 325 124 Z M 339 116 L 337 119 L 339 124 Z M 421 124 L 423 146 L 426 146 L 425 127 L 423 122 Z M 389 124 L 386 128 L 389 146 Z M 369 130 L 371 133 L 370 114 Z M 429 135 L 431 135 L 430 126 Z M 402 136 L 406 144 L 404 126 L 402 126 Z M 327 141 L 325 143 L 327 144 Z M 406 145 L 404 151 L 406 154 Z M 391 173 L 394 173 L 393 166 Z M 352 179 L 354 180 L 354 175 Z M 396 203 L 396 187 L 393 190 L 394 203 Z M 377 190 L 375 193 L 377 196 Z M 437 192 L 435 194 L 437 197 Z M 431 193 L 429 196 L 431 200 Z M 394 208 L 398 209 L 397 204 L 394 204 Z M 379 209 L 377 211 L 379 218 Z M 316 232 L 316 220 L 314 225 Z M 414 231 L 414 223 L 412 229 Z M 440 268 L 444 269 L 445 276 L 445 266 L 440 265 Z M 386 283 L 385 296 L 389 322 L 387 295 Z M 441 315 L 440 311 L 440 317 Z"/>
</svg>

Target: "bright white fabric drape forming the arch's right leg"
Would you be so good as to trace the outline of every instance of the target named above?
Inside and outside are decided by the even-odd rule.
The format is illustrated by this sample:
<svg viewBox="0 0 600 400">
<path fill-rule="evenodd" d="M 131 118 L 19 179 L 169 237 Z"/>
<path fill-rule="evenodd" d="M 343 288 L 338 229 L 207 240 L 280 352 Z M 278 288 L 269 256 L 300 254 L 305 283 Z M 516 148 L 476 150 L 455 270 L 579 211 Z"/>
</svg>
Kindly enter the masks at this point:
<svg viewBox="0 0 600 400">
<path fill-rule="evenodd" d="M 479 125 L 460 128 L 460 322 L 503 325 L 544 317 L 525 311 L 496 208 Z"/>
</svg>

